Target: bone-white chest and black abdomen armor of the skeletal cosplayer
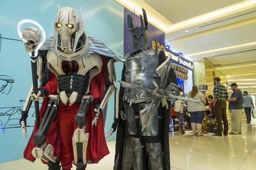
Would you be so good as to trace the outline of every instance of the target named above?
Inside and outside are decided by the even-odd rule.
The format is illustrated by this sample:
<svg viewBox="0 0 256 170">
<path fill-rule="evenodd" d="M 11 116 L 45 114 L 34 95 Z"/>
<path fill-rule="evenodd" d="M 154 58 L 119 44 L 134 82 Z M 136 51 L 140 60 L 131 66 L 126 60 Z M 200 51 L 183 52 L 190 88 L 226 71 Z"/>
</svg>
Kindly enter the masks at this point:
<svg viewBox="0 0 256 170">
<path fill-rule="evenodd" d="M 58 93 L 63 104 L 74 104 L 90 91 L 90 81 L 97 75 L 103 62 L 98 54 L 64 60 L 49 50 L 47 54 L 48 69 L 58 79 Z M 69 70 L 69 65 L 73 68 Z"/>
</svg>

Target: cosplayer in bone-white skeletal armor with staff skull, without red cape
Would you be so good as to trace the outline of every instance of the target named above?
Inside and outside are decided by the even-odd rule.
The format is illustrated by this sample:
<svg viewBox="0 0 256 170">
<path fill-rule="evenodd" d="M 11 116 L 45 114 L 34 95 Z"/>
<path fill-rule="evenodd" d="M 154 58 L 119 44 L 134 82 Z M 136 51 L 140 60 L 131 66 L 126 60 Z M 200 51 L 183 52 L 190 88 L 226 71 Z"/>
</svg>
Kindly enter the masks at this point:
<svg viewBox="0 0 256 170">
<path fill-rule="evenodd" d="M 60 114 L 59 103 L 62 104 L 62 107 L 67 107 L 67 109 L 79 104 L 77 114 L 73 120 L 77 124 L 77 129 L 73 132 L 71 142 L 73 146 L 73 160 L 71 161 L 77 166 L 77 169 L 85 169 L 88 161 L 86 159 L 86 148 L 88 146 L 89 133 L 85 131 L 88 108 L 93 106 L 94 109 L 94 116 L 90 126 L 96 126 L 100 112 L 103 111 L 111 93 L 115 90 L 113 62 L 117 60 L 117 57 L 103 43 L 87 37 L 81 14 L 77 18 L 71 7 L 61 7 L 58 10 L 54 28 L 54 38 L 49 38 L 45 41 L 44 45 L 39 49 L 37 57 L 37 75 L 41 81 L 41 87 L 37 94 L 32 93 L 33 98 L 26 100 L 20 124 L 25 132 L 26 117 L 33 100 L 44 96 L 49 98 L 38 130 L 33 133 L 35 148 L 33 148 L 32 154 L 35 158 L 41 158 L 43 161 L 48 162 L 50 170 L 60 170 L 59 163 L 61 162 L 61 165 L 65 163 L 62 163 L 62 159 L 54 155 L 55 148 L 53 144 L 47 143 L 48 131 L 51 128 L 51 123 Z M 35 49 L 41 37 L 37 29 L 30 27 L 24 30 L 22 38 L 26 42 L 26 51 L 33 53 L 33 49 Z M 105 74 L 107 83 L 103 88 L 105 89 L 104 95 L 100 93 L 100 95 L 103 95 L 100 96 L 102 98 L 100 100 L 99 98 L 94 98 L 92 91 L 90 91 L 94 87 L 90 86 L 92 79 L 103 71 L 103 58 L 107 61 L 105 62 L 107 63 L 105 66 L 107 68 Z M 49 73 L 52 74 L 53 79 L 56 79 L 56 92 L 54 94 L 44 88 L 51 79 Z M 59 128 L 61 129 L 62 125 Z"/>
</svg>

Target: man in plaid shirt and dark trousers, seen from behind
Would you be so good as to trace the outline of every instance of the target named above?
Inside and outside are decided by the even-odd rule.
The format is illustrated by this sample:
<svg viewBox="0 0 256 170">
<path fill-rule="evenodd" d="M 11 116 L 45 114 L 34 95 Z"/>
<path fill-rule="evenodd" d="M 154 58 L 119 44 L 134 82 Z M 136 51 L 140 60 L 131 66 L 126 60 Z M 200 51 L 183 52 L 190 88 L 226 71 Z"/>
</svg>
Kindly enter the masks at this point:
<svg viewBox="0 0 256 170">
<path fill-rule="evenodd" d="M 223 135 L 227 135 L 228 123 L 227 123 L 227 103 L 228 99 L 227 89 L 224 85 L 221 85 L 219 77 L 215 77 L 214 81 L 214 101 L 213 106 L 215 106 L 215 116 L 217 121 L 217 133 L 215 135 L 222 136 L 222 121 L 224 123 Z"/>
</svg>

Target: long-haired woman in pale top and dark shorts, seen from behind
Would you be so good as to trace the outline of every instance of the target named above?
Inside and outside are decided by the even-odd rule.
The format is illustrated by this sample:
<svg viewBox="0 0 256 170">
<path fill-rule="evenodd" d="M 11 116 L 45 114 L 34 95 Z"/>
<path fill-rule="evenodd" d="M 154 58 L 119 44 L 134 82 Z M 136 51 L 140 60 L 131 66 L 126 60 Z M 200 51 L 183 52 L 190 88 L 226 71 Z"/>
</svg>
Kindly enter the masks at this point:
<svg viewBox="0 0 256 170">
<path fill-rule="evenodd" d="M 202 132 L 202 120 L 204 119 L 205 104 L 206 99 L 203 93 L 198 91 L 198 86 L 194 85 L 192 90 L 187 93 L 187 98 L 192 98 L 194 100 L 200 100 L 199 103 L 187 102 L 187 110 L 191 116 L 191 127 L 193 130 L 193 135 L 201 136 Z"/>
</svg>

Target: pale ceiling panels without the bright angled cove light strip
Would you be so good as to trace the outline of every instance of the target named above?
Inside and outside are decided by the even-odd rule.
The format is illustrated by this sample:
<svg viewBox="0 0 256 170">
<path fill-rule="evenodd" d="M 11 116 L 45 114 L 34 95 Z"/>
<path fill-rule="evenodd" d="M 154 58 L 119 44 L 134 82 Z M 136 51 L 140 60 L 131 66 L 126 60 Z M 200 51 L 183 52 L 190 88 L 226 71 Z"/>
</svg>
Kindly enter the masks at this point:
<svg viewBox="0 0 256 170">
<path fill-rule="evenodd" d="M 143 1 L 173 24 L 241 2 L 241 0 Z M 227 83 L 236 81 L 238 86 L 245 87 L 242 90 L 256 93 L 256 7 L 200 23 L 185 30 L 166 34 L 166 42 L 172 49 L 188 55 L 195 61 L 206 59 L 227 76 L 229 79 Z"/>
</svg>

